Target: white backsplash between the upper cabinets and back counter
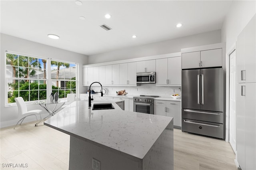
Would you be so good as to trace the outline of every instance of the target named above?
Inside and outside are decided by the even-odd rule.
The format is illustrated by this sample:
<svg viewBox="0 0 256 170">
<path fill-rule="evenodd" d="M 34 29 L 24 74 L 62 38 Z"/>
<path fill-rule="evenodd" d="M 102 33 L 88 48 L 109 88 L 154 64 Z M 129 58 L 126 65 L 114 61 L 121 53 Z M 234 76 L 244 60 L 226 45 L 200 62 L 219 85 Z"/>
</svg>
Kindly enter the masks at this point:
<svg viewBox="0 0 256 170">
<path fill-rule="evenodd" d="M 116 94 L 116 91 L 124 90 L 128 95 L 156 95 L 160 97 L 170 97 L 172 94 L 178 93 L 181 95 L 181 91 L 178 86 L 164 87 L 156 86 L 155 84 L 141 84 L 140 86 L 102 86 L 108 89 L 108 95 Z M 89 87 L 88 87 L 89 88 Z M 93 86 L 91 90 L 100 91 L 100 87 Z M 174 93 L 172 92 L 174 89 Z"/>
</svg>

